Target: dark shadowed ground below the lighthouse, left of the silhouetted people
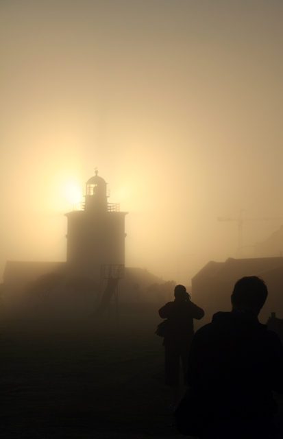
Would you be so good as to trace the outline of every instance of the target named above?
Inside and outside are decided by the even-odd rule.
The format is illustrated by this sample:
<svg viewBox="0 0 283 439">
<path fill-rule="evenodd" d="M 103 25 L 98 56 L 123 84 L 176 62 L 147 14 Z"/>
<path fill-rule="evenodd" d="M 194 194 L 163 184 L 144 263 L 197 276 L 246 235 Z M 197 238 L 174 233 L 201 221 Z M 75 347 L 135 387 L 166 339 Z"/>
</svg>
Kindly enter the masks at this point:
<svg viewBox="0 0 283 439">
<path fill-rule="evenodd" d="M 1 438 L 184 438 L 170 427 L 159 322 L 142 307 L 119 323 L 2 320 Z"/>
</svg>

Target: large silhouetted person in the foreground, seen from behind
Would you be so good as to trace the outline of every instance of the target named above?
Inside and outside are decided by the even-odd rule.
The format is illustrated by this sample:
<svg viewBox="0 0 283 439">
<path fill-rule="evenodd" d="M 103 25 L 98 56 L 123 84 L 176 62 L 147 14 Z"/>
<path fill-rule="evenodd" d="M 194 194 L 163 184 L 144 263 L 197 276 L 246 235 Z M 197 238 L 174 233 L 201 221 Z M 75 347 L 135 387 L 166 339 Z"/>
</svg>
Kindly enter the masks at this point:
<svg viewBox="0 0 283 439">
<path fill-rule="evenodd" d="M 202 439 L 273 439 L 283 394 L 280 338 L 258 322 L 267 287 L 257 276 L 234 286 L 232 311 L 218 312 L 190 346 L 188 384 L 201 416 Z"/>
</svg>

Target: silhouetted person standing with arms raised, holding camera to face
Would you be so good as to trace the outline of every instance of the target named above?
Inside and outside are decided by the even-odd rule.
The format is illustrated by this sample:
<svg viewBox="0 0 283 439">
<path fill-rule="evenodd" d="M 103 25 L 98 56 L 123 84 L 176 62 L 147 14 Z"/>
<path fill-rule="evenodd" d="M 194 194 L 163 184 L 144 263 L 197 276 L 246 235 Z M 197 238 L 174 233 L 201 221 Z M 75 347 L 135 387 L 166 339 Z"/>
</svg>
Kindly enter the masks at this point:
<svg viewBox="0 0 283 439">
<path fill-rule="evenodd" d="M 173 396 L 171 408 L 175 409 L 179 400 L 179 368 L 180 358 L 186 383 L 186 368 L 188 366 L 188 351 L 193 340 L 193 319 L 204 317 L 204 310 L 190 301 L 190 295 L 184 285 L 177 285 L 174 289 L 175 300 L 160 308 L 161 318 L 168 319 L 168 326 L 164 336 L 165 348 L 165 384 L 170 385 Z"/>
</svg>

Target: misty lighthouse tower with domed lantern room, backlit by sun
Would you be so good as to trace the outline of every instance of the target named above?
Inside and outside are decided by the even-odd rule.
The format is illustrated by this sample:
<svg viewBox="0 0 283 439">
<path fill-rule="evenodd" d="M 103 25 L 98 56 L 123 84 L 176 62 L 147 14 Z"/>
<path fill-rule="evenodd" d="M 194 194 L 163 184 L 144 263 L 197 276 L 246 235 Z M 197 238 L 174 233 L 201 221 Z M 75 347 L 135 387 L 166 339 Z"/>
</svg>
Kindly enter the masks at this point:
<svg viewBox="0 0 283 439">
<path fill-rule="evenodd" d="M 68 272 L 99 280 L 104 264 L 125 264 L 125 215 L 120 204 L 108 203 L 107 183 L 95 176 L 86 182 L 84 202 L 66 213 Z"/>
</svg>

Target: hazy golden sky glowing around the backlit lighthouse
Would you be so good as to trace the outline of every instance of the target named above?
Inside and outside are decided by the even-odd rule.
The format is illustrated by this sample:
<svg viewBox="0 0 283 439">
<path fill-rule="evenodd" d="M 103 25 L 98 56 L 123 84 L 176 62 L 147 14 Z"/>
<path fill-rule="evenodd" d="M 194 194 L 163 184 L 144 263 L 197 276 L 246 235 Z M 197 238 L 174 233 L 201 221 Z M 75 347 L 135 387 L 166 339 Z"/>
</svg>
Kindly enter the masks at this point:
<svg viewBox="0 0 283 439">
<path fill-rule="evenodd" d="M 219 216 L 279 218 L 244 222 L 245 246 L 279 228 L 282 0 L 0 6 L 0 275 L 65 260 L 64 213 L 95 167 L 129 212 L 126 265 L 166 280 L 236 256 Z"/>
</svg>

